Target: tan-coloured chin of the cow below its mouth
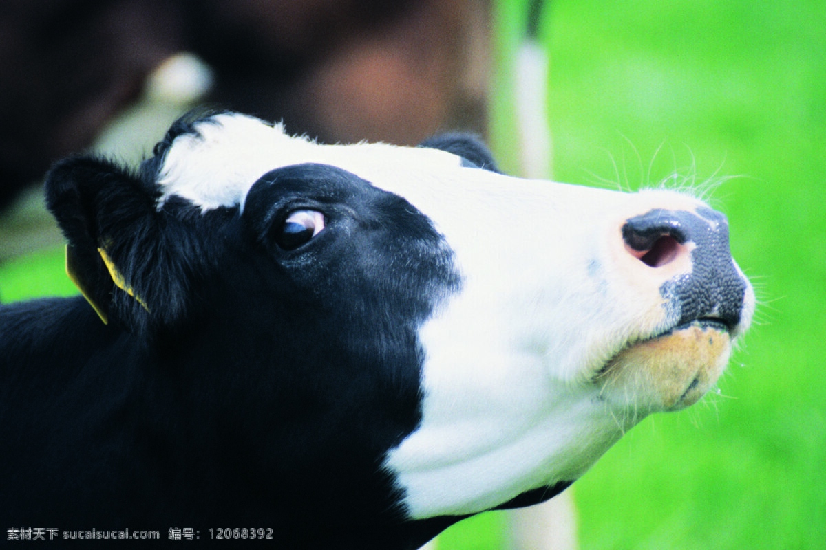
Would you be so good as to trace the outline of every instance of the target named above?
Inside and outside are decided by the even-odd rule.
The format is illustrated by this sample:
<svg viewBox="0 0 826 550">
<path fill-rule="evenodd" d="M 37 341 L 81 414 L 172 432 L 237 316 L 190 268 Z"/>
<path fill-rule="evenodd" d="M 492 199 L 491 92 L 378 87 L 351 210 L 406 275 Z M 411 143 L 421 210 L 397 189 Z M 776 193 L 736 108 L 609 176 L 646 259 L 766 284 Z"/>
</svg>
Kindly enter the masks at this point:
<svg viewBox="0 0 826 550">
<path fill-rule="evenodd" d="M 678 411 L 703 397 L 731 355 L 729 331 L 698 320 L 628 346 L 596 378 L 601 394 L 637 414 Z"/>
</svg>

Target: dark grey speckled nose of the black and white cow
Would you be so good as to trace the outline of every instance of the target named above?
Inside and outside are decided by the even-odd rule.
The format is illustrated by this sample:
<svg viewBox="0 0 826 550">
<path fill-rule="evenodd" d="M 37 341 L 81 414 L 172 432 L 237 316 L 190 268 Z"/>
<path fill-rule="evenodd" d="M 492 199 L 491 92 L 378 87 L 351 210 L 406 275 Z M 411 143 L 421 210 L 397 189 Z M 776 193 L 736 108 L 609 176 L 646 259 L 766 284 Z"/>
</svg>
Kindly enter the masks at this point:
<svg viewBox="0 0 826 550">
<path fill-rule="evenodd" d="M 697 319 L 718 320 L 729 331 L 740 322 L 746 281 L 729 250 L 729 223 L 709 209 L 653 209 L 627 219 L 625 249 L 648 268 L 667 266 L 688 255 L 691 270 L 666 280 L 660 294 L 667 300 L 674 326 Z"/>
</svg>

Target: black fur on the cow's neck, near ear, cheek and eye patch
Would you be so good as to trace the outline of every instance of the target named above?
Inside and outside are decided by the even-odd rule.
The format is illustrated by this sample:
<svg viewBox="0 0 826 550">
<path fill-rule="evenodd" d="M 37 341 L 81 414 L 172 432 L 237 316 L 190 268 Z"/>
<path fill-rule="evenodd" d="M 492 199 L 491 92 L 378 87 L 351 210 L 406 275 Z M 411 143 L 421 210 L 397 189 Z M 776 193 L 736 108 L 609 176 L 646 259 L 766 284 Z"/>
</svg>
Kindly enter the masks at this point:
<svg viewBox="0 0 826 550">
<path fill-rule="evenodd" d="M 461 284 L 429 219 L 317 164 L 269 172 L 243 213 L 158 210 L 156 173 L 94 157 L 50 173 L 49 208 L 111 322 L 79 297 L 0 308 L 7 526 L 417 548 L 459 519 L 406 521 L 381 468 L 420 422 L 416 328 Z M 285 251 L 273 231 L 294 209 L 325 229 Z"/>
</svg>

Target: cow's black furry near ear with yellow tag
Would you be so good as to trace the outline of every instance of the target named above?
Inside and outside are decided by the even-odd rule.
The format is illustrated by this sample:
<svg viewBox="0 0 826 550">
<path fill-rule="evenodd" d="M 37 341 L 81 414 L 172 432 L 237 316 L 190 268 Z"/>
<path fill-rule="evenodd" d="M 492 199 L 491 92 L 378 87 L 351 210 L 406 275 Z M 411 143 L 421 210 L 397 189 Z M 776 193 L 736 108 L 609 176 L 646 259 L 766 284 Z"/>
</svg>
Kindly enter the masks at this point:
<svg viewBox="0 0 826 550">
<path fill-rule="evenodd" d="M 157 209 L 158 190 L 96 157 L 59 162 L 46 178 L 46 205 L 67 245 L 67 271 L 104 322 L 133 330 L 168 325 L 183 314 L 186 238 Z M 169 227 L 173 226 L 173 227 Z"/>
</svg>

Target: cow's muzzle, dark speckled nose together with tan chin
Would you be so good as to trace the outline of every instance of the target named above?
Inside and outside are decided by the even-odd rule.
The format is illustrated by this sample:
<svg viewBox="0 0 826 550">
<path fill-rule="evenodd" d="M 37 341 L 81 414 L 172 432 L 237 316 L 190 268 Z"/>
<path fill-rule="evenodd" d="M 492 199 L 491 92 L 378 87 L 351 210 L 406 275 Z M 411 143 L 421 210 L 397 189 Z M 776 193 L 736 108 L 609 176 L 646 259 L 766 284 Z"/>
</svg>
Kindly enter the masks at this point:
<svg viewBox="0 0 826 550">
<path fill-rule="evenodd" d="M 640 269 L 666 274 L 659 286 L 666 320 L 619 350 L 596 381 L 608 401 L 643 414 L 687 407 L 714 386 L 751 315 L 728 222 L 705 207 L 653 209 L 627 219 L 622 239 Z"/>
</svg>

